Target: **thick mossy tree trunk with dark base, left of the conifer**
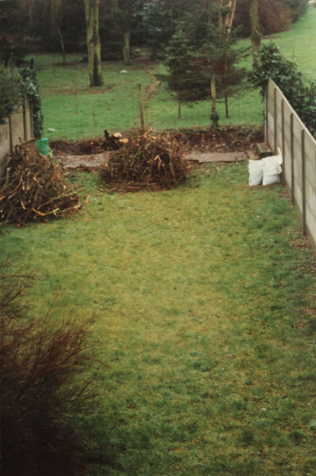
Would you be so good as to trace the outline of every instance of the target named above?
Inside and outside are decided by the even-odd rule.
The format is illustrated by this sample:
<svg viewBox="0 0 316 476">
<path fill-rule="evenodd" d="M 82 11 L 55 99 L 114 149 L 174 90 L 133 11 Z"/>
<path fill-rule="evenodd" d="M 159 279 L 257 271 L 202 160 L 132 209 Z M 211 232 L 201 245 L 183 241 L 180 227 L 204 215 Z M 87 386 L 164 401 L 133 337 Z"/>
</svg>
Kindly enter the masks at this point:
<svg viewBox="0 0 316 476">
<path fill-rule="evenodd" d="M 87 26 L 88 71 L 90 87 L 103 84 L 99 39 L 99 0 L 84 0 Z"/>
</svg>

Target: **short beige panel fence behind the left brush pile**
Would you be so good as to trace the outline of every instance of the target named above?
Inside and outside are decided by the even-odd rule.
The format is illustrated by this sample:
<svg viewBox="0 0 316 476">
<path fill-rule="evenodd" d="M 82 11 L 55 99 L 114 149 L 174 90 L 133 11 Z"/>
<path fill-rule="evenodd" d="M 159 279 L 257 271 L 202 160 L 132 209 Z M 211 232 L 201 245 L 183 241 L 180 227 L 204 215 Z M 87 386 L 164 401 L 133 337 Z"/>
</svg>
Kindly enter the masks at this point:
<svg viewBox="0 0 316 476">
<path fill-rule="evenodd" d="M 32 139 L 33 114 L 32 106 L 25 100 L 7 119 L 0 124 L 0 177 L 3 175 L 7 156 L 11 154 L 17 144 Z"/>
</svg>

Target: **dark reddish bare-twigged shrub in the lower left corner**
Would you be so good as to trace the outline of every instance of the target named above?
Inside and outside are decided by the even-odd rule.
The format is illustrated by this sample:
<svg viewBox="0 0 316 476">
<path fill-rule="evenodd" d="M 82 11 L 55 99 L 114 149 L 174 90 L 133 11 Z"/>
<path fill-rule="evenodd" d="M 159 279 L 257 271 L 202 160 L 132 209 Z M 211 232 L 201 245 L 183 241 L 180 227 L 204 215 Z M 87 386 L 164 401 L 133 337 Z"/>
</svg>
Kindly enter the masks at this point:
<svg viewBox="0 0 316 476">
<path fill-rule="evenodd" d="M 34 274 L 0 270 L 3 474 L 93 474 L 91 462 L 107 464 L 113 456 L 95 426 L 92 322 L 63 319 L 56 326 L 51 310 L 32 317 L 23 296 Z"/>
</svg>

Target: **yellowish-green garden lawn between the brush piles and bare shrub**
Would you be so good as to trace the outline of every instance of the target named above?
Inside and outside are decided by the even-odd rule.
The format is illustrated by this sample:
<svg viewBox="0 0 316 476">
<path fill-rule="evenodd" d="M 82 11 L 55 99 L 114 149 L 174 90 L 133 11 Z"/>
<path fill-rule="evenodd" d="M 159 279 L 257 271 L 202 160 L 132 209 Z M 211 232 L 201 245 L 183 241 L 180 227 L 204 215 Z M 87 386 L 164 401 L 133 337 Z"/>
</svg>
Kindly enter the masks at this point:
<svg viewBox="0 0 316 476">
<path fill-rule="evenodd" d="M 96 317 L 119 448 L 99 474 L 315 475 L 316 262 L 284 189 L 244 163 L 125 195 L 74 175 L 82 210 L 2 227 L 1 249 L 46 278 L 38 309 Z"/>
</svg>

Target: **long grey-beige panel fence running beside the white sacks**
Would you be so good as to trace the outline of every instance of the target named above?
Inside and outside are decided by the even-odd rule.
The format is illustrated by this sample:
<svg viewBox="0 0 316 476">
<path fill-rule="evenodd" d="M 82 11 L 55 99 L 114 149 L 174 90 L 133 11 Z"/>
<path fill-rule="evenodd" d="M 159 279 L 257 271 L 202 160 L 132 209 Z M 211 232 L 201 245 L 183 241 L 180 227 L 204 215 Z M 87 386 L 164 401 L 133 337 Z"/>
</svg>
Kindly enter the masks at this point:
<svg viewBox="0 0 316 476">
<path fill-rule="evenodd" d="M 316 140 L 271 79 L 265 98 L 265 138 L 275 153 L 277 147 L 282 150 L 283 183 L 316 251 Z"/>
</svg>

